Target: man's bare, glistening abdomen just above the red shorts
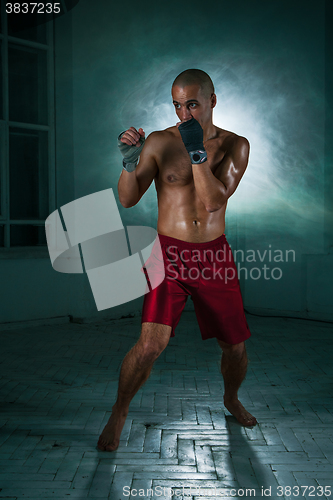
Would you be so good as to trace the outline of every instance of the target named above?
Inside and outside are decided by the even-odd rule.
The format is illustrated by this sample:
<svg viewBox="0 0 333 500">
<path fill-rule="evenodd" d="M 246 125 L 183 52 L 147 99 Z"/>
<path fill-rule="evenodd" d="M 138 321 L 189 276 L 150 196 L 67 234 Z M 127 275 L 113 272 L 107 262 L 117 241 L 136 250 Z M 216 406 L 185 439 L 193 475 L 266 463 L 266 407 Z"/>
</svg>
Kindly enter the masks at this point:
<svg viewBox="0 0 333 500">
<path fill-rule="evenodd" d="M 191 184 L 159 186 L 157 232 L 192 243 L 212 241 L 224 233 L 227 203 L 207 212 Z"/>
</svg>

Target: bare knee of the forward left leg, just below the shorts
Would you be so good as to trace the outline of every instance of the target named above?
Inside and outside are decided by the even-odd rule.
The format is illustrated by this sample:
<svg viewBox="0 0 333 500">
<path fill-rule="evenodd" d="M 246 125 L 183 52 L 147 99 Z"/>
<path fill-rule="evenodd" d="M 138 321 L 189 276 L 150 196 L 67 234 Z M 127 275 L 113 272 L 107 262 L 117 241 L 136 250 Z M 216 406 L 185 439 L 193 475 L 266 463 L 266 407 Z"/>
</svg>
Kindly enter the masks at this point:
<svg viewBox="0 0 333 500">
<path fill-rule="evenodd" d="M 155 361 L 169 343 L 171 326 L 159 323 L 142 323 L 137 342 L 139 357 L 143 363 Z"/>
</svg>

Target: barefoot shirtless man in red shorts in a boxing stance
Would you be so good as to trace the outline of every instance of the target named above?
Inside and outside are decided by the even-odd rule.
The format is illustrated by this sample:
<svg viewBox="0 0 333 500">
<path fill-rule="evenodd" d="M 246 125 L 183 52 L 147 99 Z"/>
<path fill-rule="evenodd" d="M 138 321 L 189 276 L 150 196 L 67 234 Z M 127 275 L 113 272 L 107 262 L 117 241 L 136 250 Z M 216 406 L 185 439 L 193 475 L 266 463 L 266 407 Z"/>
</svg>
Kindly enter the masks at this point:
<svg viewBox="0 0 333 500">
<path fill-rule="evenodd" d="M 227 201 L 247 167 L 249 143 L 213 124 L 216 95 L 204 71 L 189 69 L 178 75 L 172 97 L 180 120 L 176 126 L 152 132 L 147 139 L 142 128 L 130 127 L 118 138 L 124 156 L 120 203 L 126 208 L 136 205 L 155 182 L 157 232 L 166 276 L 144 297 L 141 336 L 121 366 L 118 397 L 99 438 L 100 450 L 118 447 L 130 401 L 174 336 L 189 295 L 202 338 L 216 337 L 223 351 L 225 407 L 242 425 L 256 424 L 237 396 L 247 368 L 244 341 L 251 333 L 224 235 Z M 204 261 L 208 251 L 211 258 Z M 226 262 L 221 263 L 221 252 Z"/>
</svg>

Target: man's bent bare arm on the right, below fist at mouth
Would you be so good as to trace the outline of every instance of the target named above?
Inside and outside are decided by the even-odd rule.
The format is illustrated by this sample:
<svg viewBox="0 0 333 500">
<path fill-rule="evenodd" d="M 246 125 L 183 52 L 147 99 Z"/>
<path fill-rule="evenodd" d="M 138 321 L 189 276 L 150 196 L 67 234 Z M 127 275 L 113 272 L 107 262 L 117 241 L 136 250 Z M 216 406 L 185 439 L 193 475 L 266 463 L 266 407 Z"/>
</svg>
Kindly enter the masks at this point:
<svg viewBox="0 0 333 500">
<path fill-rule="evenodd" d="M 246 170 L 249 151 L 248 140 L 236 136 L 214 174 L 208 160 L 192 164 L 195 189 L 207 212 L 219 210 L 235 192 Z"/>
</svg>

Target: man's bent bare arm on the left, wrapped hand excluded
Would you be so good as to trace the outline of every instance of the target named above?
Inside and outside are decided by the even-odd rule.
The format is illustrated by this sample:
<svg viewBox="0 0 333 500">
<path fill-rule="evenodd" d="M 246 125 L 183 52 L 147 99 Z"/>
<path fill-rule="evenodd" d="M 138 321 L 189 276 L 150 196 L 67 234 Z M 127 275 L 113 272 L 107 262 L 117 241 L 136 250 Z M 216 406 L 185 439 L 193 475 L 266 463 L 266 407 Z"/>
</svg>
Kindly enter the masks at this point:
<svg viewBox="0 0 333 500">
<path fill-rule="evenodd" d="M 133 207 L 139 202 L 158 172 L 154 155 L 157 134 L 158 132 L 152 132 L 147 137 L 135 170 L 127 172 L 123 169 L 120 175 L 118 195 L 120 203 L 125 208 Z"/>
</svg>

